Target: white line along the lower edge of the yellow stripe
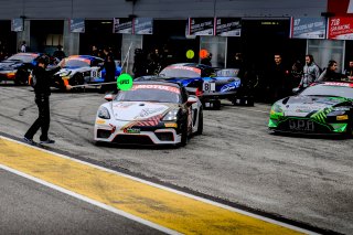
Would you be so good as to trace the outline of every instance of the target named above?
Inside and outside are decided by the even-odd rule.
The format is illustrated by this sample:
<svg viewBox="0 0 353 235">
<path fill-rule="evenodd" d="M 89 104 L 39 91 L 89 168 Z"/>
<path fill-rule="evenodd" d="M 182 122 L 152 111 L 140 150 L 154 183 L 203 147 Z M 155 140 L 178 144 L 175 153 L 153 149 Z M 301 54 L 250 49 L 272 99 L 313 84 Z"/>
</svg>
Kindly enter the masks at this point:
<svg viewBox="0 0 353 235">
<path fill-rule="evenodd" d="M 98 206 L 98 207 L 100 207 L 100 209 L 104 209 L 104 210 L 106 210 L 106 211 L 109 211 L 109 212 L 113 212 L 113 213 L 118 214 L 118 215 L 120 215 L 120 216 L 127 217 L 127 218 L 129 218 L 129 220 L 131 220 L 131 221 L 138 222 L 138 223 L 140 223 L 140 224 L 145 224 L 145 225 L 147 225 L 147 226 L 149 226 L 149 227 L 156 228 L 156 229 L 161 231 L 161 232 L 163 232 L 163 233 L 167 233 L 167 234 L 178 234 L 178 235 L 180 234 L 180 233 L 178 233 L 178 232 L 175 232 L 175 231 L 169 229 L 169 228 L 167 228 L 167 227 L 160 226 L 160 225 L 158 225 L 158 224 L 154 224 L 154 223 L 152 223 L 152 222 L 146 221 L 146 220 L 140 218 L 140 217 L 138 217 L 138 216 L 131 215 L 131 214 L 129 214 L 129 213 L 126 213 L 126 212 L 120 211 L 120 210 L 118 210 L 118 209 L 115 209 L 115 207 L 113 207 L 113 206 L 106 205 L 106 204 L 104 204 L 104 203 L 101 203 L 101 202 L 97 202 L 97 201 L 95 201 L 95 200 L 88 199 L 88 197 L 86 197 L 86 196 L 84 196 L 84 195 L 81 195 L 81 194 L 74 193 L 74 192 L 72 192 L 72 191 L 65 190 L 65 189 L 63 189 L 63 188 L 61 188 L 61 186 L 57 186 L 57 185 L 55 185 L 55 184 L 49 183 L 49 182 L 46 182 L 46 181 L 43 181 L 43 180 L 38 179 L 38 178 L 34 178 L 34 177 L 31 177 L 31 175 L 29 175 L 29 174 L 25 174 L 25 173 L 23 173 L 23 172 L 21 172 L 21 171 L 14 170 L 14 169 L 9 168 L 9 167 L 6 167 L 6 165 L 3 165 L 3 164 L 0 164 L 0 168 L 3 169 L 3 170 L 6 170 L 6 171 L 9 171 L 9 172 L 11 172 L 11 173 L 14 173 L 14 174 L 17 174 L 17 175 L 20 175 L 20 177 L 23 177 L 23 178 L 25 178 L 25 179 L 32 180 L 32 181 L 34 181 L 34 182 L 36 182 L 36 183 L 40 183 L 40 184 L 44 185 L 44 186 L 51 188 L 51 189 L 56 190 L 56 191 L 58 191 L 58 192 L 62 192 L 62 193 L 65 193 L 65 194 L 67 194 L 67 195 L 73 196 L 73 197 L 76 197 L 76 199 L 78 199 L 78 200 L 81 200 L 81 201 L 90 203 L 90 204 L 96 205 L 96 206 Z"/>
</svg>

